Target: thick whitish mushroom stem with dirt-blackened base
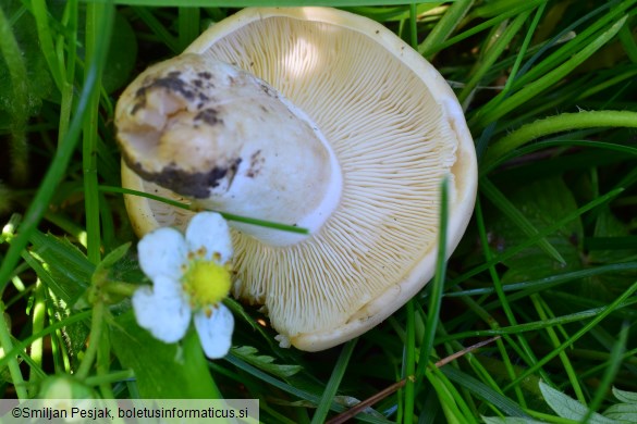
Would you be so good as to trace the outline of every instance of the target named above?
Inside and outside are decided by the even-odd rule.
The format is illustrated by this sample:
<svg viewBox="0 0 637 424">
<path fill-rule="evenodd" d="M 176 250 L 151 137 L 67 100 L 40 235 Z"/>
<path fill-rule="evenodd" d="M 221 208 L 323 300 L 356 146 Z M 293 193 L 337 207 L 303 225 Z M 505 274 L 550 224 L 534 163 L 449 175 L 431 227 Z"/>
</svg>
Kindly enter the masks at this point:
<svg viewBox="0 0 637 424">
<path fill-rule="evenodd" d="M 186 53 L 151 66 L 115 111 L 127 166 L 204 209 L 316 233 L 339 204 L 342 175 L 318 126 L 264 80 Z M 272 246 L 307 236 L 234 227 Z"/>
</svg>

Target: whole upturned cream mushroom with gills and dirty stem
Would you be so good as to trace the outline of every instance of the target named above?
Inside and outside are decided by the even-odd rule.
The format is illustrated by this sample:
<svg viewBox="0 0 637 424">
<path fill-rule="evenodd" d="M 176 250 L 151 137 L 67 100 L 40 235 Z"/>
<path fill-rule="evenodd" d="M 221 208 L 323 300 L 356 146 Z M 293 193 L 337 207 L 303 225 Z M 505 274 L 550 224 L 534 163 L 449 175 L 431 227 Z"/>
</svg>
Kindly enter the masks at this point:
<svg viewBox="0 0 637 424">
<path fill-rule="evenodd" d="M 339 345 L 427 284 L 444 176 L 448 252 L 474 208 L 474 144 L 443 77 L 335 9 L 244 9 L 139 75 L 115 122 L 124 187 L 309 229 L 232 223 L 233 295 L 265 307 L 282 346 Z M 138 235 L 192 214 L 125 201 Z"/>
</svg>

